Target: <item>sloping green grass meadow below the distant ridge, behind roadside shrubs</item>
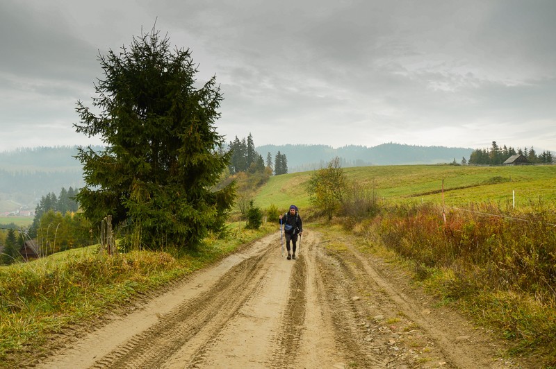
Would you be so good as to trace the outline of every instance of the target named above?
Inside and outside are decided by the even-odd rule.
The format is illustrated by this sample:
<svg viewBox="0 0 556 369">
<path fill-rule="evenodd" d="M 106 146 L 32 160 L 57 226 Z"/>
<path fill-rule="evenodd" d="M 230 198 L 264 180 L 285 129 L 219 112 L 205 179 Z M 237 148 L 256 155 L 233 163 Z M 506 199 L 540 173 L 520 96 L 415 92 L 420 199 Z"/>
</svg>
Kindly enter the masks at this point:
<svg viewBox="0 0 556 369">
<path fill-rule="evenodd" d="M 556 165 L 451 166 L 400 165 L 345 168 L 350 180 L 390 203 L 436 203 L 447 206 L 496 202 L 524 207 L 530 202 L 556 201 Z M 259 190 L 255 203 L 287 209 L 309 205 L 305 183 L 313 172 L 277 175 Z M 444 185 L 444 194 L 442 194 Z M 512 192 L 515 191 L 515 192 Z"/>
</svg>

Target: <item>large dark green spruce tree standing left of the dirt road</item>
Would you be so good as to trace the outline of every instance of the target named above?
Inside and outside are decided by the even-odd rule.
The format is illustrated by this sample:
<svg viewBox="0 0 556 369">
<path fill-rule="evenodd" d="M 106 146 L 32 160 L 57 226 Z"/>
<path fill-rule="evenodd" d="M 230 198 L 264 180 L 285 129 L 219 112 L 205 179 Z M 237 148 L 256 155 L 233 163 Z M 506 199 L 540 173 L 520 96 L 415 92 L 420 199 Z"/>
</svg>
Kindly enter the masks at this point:
<svg viewBox="0 0 556 369">
<path fill-rule="evenodd" d="M 214 126 L 222 101 L 215 77 L 197 88 L 190 50 L 172 49 L 154 28 L 99 61 L 104 78 L 92 101 L 99 113 L 81 101 L 76 108 L 76 131 L 105 144 L 77 155 L 85 215 L 131 225 L 135 246 L 195 247 L 222 229 L 235 196 L 234 184 L 213 190 L 229 161 Z"/>
</svg>

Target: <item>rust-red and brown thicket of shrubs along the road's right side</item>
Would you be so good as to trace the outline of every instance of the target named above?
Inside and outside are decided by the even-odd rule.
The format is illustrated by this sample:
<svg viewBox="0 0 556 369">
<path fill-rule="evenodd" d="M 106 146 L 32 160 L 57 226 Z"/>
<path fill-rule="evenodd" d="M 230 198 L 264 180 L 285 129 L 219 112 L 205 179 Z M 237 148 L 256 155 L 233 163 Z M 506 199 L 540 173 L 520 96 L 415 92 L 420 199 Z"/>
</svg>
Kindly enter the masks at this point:
<svg viewBox="0 0 556 369">
<path fill-rule="evenodd" d="M 426 266 L 478 266 L 496 289 L 554 298 L 556 216 L 550 207 L 502 211 L 493 204 L 468 209 L 399 205 L 384 212 L 379 234 L 386 246 Z M 476 273 L 476 272 L 475 272 Z"/>
</svg>

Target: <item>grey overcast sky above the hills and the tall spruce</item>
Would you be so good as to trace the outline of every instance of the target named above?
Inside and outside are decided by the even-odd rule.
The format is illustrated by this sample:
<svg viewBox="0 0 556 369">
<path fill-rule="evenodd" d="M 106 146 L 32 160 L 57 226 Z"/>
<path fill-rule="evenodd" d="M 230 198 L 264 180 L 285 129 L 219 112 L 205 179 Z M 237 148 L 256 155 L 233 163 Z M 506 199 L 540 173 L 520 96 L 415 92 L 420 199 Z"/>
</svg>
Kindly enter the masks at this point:
<svg viewBox="0 0 556 369">
<path fill-rule="evenodd" d="M 99 53 L 156 29 L 263 144 L 556 151 L 553 0 L 1 0 L 0 151 L 77 134 Z"/>
</svg>

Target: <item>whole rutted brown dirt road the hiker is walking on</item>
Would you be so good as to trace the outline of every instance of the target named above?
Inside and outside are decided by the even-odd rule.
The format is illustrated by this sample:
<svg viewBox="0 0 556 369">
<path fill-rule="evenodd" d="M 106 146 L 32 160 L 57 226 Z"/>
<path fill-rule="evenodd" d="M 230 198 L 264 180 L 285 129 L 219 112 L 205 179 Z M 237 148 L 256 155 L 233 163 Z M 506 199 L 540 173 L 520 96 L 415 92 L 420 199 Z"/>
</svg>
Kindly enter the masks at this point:
<svg viewBox="0 0 556 369">
<path fill-rule="evenodd" d="M 350 239 L 252 243 L 35 368 L 523 368 Z M 525 366 L 526 367 L 526 366 Z"/>
</svg>

